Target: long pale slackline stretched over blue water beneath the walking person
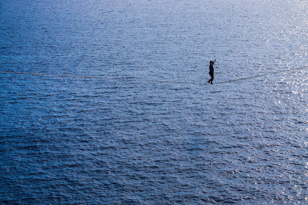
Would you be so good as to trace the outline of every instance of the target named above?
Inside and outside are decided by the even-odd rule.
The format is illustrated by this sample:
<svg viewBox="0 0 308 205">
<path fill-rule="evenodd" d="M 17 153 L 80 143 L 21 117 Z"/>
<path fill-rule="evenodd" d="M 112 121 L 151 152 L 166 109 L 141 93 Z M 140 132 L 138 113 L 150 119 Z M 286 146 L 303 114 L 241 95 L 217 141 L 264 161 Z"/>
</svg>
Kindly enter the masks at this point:
<svg viewBox="0 0 308 205">
<path fill-rule="evenodd" d="M 300 68 L 293 68 L 290 70 L 297 70 L 297 69 L 303 69 L 308 68 L 308 66 L 300 67 Z M 225 82 L 217 82 L 216 84 L 226 83 L 226 82 L 234 82 L 239 80 L 245 80 L 249 78 L 257 78 L 264 75 L 270 75 L 275 73 L 281 73 L 286 72 L 290 70 L 280 70 L 273 73 L 267 73 L 262 75 L 255 75 L 247 78 L 239 78 L 235 80 L 228 80 Z M 108 79 L 108 80 L 123 80 L 123 81 L 146 81 L 146 82 L 167 82 L 167 83 L 186 83 L 186 84 L 206 84 L 204 82 L 175 82 L 175 81 L 162 81 L 162 80 L 142 80 L 142 79 L 124 79 L 124 78 L 104 78 L 104 77 L 96 77 L 96 76 L 80 76 L 80 75 L 61 75 L 61 74 L 46 74 L 46 73 L 25 73 L 25 72 L 13 72 L 13 71 L 0 71 L 1 73 L 8 73 L 8 74 L 29 74 L 29 75 L 48 75 L 48 76 L 60 76 L 60 77 L 72 77 L 72 78 L 100 78 L 100 79 Z"/>
</svg>

